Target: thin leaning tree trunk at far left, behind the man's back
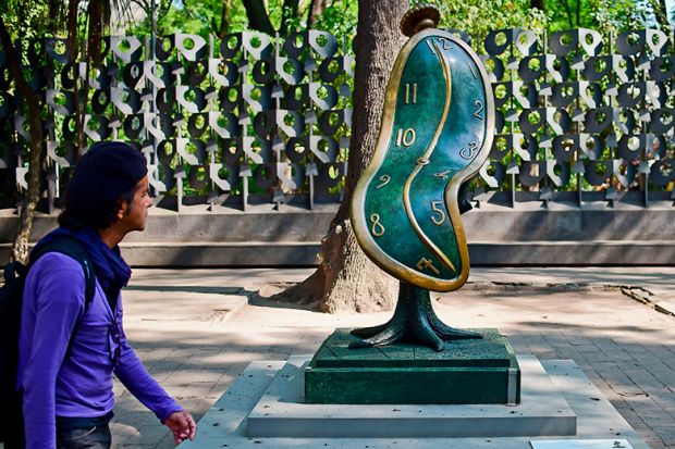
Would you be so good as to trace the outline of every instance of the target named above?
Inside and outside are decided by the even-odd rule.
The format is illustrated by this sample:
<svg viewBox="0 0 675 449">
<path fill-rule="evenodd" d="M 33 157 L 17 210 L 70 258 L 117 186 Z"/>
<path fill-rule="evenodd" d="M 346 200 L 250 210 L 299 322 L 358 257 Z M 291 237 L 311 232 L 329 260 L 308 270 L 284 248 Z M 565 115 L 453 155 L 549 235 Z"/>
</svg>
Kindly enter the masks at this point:
<svg viewBox="0 0 675 449">
<path fill-rule="evenodd" d="M 33 227 L 35 208 L 40 199 L 40 167 L 42 166 L 42 121 L 40 119 L 40 103 L 21 68 L 21 55 L 12 45 L 12 38 L 0 15 L 0 41 L 4 49 L 7 65 L 14 79 L 16 89 L 28 105 L 28 123 L 30 125 L 30 160 L 28 166 L 28 191 L 24 198 L 19 217 L 19 229 L 12 246 L 12 259 L 25 263 L 28 259 L 28 237 Z"/>
</svg>

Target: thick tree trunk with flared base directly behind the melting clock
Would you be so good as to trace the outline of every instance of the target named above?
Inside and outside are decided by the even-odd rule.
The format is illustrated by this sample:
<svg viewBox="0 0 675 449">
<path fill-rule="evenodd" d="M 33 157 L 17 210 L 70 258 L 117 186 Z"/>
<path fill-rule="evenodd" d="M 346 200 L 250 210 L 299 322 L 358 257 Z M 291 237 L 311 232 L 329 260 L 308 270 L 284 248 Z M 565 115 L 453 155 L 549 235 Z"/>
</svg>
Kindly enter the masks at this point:
<svg viewBox="0 0 675 449">
<path fill-rule="evenodd" d="M 397 282 L 361 251 L 349 223 L 352 191 L 375 152 L 384 92 L 403 36 L 398 23 L 407 1 L 359 1 L 349 164 L 344 199 L 321 242 L 321 263 L 303 283 L 274 299 L 315 303 L 320 311 L 371 312 L 394 304 Z"/>
</svg>

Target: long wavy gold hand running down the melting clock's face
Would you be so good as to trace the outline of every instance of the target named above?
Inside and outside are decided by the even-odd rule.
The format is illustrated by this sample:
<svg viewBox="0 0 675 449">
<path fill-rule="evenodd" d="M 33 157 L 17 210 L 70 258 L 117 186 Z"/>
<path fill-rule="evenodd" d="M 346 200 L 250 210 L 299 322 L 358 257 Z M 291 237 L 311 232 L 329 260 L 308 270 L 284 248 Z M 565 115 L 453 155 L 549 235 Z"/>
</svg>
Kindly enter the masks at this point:
<svg viewBox="0 0 675 449">
<path fill-rule="evenodd" d="M 441 251 L 441 249 L 425 234 L 425 232 L 419 226 L 419 223 L 417 223 L 417 219 L 415 219 L 415 214 L 413 213 L 413 205 L 410 203 L 410 185 L 413 184 L 413 179 L 415 179 L 415 177 L 421 171 L 421 169 L 429 163 L 429 157 L 435 149 L 435 145 L 443 130 L 443 125 L 445 124 L 445 119 L 447 119 L 447 111 L 450 110 L 450 100 L 452 97 L 452 82 L 451 82 L 450 65 L 445 61 L 445 58 L 443 58 L 443 55 L 441 54 L 441 50 L 439 49 L 439 46 L 435 43 L 435 41 L 432 40 L 432 42 L 435 49 L 434 53 L 439 58 L 441 66 L 443 67 L 443 77 L 445 79 L 445 91 L 446 91 L 445 104 L 443 105 L 443 113 L 441 114 L 441 120 L 439 121 L 439 124 L 435 128 L 435 133 L 433 134 L 433 137 L 431 138 L 429 146 L 427 146 L 425 154 L 417 160 L 415 164 L 415 169 L 413 170 L 413 172 L 410 173 L 410 175 L 408 176 L 408 178 L 406 179 L 403 186 L 403 204 L 405 207 L 405 212 L 408 216 L 410 225 L 413 226 L 413 229 L 415 230 L 415 234 L 417 234 L 417 236 L 425 244 L 427 249 L 429 249 L 429 251 L 431 251 L 443 263 L 443 265 L 445 265 L 446 267 L 449 267 L 450 270 L 456 273 L 457 269 L 451 262 L 447 255 L 445 255 L 445 253 Z"/>
</svg>

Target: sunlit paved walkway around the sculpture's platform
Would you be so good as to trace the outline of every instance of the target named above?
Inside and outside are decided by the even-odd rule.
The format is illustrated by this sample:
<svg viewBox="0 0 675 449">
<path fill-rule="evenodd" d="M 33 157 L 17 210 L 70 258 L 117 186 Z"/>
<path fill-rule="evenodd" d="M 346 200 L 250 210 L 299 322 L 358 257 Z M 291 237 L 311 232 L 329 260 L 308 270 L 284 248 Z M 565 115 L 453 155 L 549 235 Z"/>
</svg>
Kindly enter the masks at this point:
<svg viewBox="0 0 675 449">
<path fill-rule="evenodd" d="M 316 313 L 254 295 L 309 273 L 135 270 L 126 333 L 199 419 L 250 361 L 310 354 L 335 327 L 389 317 Z M 652 448 L 675 448 L 675 316 L 654 309 L 675 303 L 675 269 L 474 269 L 461 291 L 435 296 L 453 326 L 498 327 L 518 353 L 573 359 Z M 115 388 L 113 447 L 173 447 L 155 416 Z"/>
</svg>

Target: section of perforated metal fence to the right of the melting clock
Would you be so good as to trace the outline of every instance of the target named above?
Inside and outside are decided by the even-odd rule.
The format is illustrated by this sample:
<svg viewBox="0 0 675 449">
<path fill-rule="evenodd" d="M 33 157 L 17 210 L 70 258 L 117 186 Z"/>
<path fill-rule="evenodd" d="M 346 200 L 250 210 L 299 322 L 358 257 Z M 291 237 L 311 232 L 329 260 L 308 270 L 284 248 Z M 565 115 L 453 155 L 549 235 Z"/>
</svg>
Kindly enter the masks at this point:
<svg viewBox="0 0 675 449">
<path fill-rule="evenodd" d="M 491 189 L 521 198 L 673 200 L 672 37 L 590 29 L 538 37 L 498 30 L 484 42 L 499 109 Z M 533 195 L 532 195 L 533 194 Z"/>
</svg>

